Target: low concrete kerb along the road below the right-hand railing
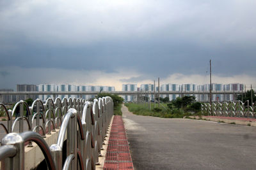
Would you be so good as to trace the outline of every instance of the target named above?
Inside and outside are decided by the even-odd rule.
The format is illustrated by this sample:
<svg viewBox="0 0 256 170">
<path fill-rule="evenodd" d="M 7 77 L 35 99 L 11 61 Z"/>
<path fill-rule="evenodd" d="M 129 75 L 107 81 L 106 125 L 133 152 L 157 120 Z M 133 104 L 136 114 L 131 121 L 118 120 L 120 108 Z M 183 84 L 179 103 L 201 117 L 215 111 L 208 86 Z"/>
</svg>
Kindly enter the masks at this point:
<svg viewBox="0 0 256 170">
<path fill-rule="evenodd" d="M 189 118 L 195 118 L 196 120 L 210 120 L 213 122 L 221 122 L 226 124 L 236 124 L 236 125 L 250 125 L 256 127 L 256 122 L 251 120 L 235 120 L 235 119 L 228 119 L 225 117 L 206 117 L 206 116 L 189 116 Z"/>
</svg>

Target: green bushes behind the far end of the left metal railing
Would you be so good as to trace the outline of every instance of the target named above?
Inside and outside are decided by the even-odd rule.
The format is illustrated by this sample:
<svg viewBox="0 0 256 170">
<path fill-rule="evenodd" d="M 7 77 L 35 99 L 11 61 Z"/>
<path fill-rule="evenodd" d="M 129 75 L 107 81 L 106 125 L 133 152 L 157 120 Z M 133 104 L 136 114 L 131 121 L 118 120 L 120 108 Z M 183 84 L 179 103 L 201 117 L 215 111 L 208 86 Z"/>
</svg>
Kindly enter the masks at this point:
<svg viewBox="0 0 256 170">
<path fill-rule="evenodd" d="M 109 94 L 109 93 L 100 93 L 98 94 L 95 98 L 99 98 L 99 97 L 106 97 L 109 96 L 113 99 L 113 103 L 114 103 L 114 115 L 122 115 L 122 103 L 124 101 L 124 99 L 120 96 L 114 95 L 114 94 Z"/>
</svg>

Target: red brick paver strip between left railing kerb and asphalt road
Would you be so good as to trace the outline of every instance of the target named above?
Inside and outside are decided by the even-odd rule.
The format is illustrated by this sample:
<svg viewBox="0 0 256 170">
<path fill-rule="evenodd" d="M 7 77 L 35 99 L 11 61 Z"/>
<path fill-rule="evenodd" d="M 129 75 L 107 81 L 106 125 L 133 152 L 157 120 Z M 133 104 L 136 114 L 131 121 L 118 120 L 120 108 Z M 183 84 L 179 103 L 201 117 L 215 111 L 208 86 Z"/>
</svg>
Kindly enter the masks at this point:
<svg viewBox="0 0 256 170">
<path fill-rule="evenodd" d="M 133 169 L 132 157 L 121 116 L 113 118 L 103 169 Z"/>
</svg>

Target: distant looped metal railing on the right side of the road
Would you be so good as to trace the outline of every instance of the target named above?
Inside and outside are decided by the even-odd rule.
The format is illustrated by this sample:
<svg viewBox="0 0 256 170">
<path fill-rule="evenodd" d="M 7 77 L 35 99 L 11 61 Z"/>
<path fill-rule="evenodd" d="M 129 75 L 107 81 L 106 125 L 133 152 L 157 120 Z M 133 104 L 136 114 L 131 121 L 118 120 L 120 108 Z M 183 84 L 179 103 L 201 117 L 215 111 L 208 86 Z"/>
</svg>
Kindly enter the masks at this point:
<svg viewBox="0 0 256 170">
<path fill-rule="evenodd" d="M 246 117 L 256 118 L 256 102 L 250 106 L 249 101 L 204 103 L 201 104 L 201 111 L 204 115 L 217 117 Z"/>
</svg>

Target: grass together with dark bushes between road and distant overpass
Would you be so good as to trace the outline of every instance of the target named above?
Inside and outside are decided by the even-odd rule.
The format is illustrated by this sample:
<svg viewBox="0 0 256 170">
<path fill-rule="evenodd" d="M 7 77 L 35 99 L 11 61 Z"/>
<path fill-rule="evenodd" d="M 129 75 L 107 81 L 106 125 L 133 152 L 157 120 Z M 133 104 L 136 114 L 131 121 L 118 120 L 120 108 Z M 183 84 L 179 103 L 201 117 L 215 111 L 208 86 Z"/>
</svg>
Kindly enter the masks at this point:
<svg viewBox="0 0 256 170">
<path fill-rule="evenodd" d="M 168 97 L 160 100 L 160 107 L 154 108 L 154 103 L 149 106 L 147 103 L 126 103 L 128 110 L 136 115 L 162 117 L 162 118 L 183 118 L 190 115 L 201 115 L 201 103 L 195 101 L 193 96 L 177 97 L 177 99 L 168 102 Z M 158 106 L 158 104 L 156 104 Z"/>
</svg>

